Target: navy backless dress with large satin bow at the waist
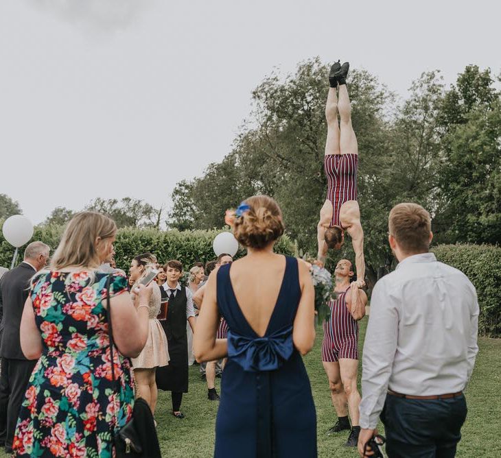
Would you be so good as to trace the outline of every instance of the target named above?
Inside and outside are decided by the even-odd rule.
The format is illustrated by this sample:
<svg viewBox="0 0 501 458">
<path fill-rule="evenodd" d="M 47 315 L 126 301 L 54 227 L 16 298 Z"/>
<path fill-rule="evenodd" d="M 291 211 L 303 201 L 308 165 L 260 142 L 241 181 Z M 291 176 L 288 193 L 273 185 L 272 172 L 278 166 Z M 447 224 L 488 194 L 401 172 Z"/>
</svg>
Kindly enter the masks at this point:
<svg viewBox="0 0 501 458">
<path fill-rule="evenodd" d="M 286 271 L 264 337 L 246 321 L 230 280 L 218 271 L 218 309 L 226 319 L 228 362 L 215 423 L 215 458 L 316 457 L 316 412 L 310 379 L 292 343 L 301 298 L 296 258 Z"/>
</svg>

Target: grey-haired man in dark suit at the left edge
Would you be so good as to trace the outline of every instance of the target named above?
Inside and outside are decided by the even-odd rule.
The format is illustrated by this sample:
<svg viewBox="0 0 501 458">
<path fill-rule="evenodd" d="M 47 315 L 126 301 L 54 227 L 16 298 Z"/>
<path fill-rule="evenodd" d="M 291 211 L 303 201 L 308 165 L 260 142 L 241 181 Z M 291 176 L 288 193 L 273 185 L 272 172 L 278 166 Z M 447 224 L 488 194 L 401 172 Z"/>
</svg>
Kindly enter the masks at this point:
<svg viewBox="0 0 501 458">
<path fill-rule="evenodd" d="M 0 280 L 0 446 L 12 452 L 12 440 L 26 385 L 36 361 L 28 361 L 21 350 L 19 330 L 30 279 L 42 269 L 50 248 L 42 242 L 27 246 L 24 261 Z"/>
</svg>

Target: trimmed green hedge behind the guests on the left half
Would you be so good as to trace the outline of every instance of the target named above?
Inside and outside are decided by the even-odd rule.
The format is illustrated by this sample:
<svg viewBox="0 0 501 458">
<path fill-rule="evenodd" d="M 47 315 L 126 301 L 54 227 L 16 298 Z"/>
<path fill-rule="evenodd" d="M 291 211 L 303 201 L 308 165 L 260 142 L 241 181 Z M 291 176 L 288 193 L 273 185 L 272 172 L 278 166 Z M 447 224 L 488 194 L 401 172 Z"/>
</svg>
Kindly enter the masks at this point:
<svg viewBox="0 0 501 458">
<path fill-rule="evenodd" d="M 32 241 L 40 240 L 47 243 L 54 252 L 57 247 L 63 227 L 46 226 L 35 228 Z M 128 272 L 130 261 L 137 254 L 143 252 L 152 252 L 164 263 L 170 259 L 178 259 L 185 268 L 189 268 L 197 261 L 207 262 L 215 258 L 212 250 L 212 241 L 214 237 L 222 230 L 156 230 L 156 229 L 137 229 L 123 228 L 117 232 L 117 241 L 115 242 L 115 260 L 117 267 Z M 20 249 L 18 263 L 21 260 L 25 247 Z M 286 236 L 282 237 L 277 243 L 276 252 L 294 256 L 294 244 Z M 3 239 L 0 233 L 0 265 L 10 267 L 14 248 Z M 237 253 L 237 258 L 244 256 L 245 250 L 242 248 Z"/>
</svg>

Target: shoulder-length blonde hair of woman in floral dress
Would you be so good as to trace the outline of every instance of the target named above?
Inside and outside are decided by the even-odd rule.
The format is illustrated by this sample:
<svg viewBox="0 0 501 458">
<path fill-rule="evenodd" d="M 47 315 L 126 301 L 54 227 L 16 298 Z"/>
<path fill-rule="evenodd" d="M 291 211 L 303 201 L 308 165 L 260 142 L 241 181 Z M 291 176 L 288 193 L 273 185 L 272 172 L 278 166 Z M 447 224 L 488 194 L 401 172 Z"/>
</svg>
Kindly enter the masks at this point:
<svg viewBox="0 0 501 458">
<path fill-rule="evenodd" d="M 101 264 L 95 247 L 95 239 L 109 239 L 117 233 L 117 225 L 113 219 L 93 211 L 77 213 L 69 221 L 62 234 L 54 256 L 51 270 L 65 267 L 89 267 L 95 269 Z"/>
</svg>

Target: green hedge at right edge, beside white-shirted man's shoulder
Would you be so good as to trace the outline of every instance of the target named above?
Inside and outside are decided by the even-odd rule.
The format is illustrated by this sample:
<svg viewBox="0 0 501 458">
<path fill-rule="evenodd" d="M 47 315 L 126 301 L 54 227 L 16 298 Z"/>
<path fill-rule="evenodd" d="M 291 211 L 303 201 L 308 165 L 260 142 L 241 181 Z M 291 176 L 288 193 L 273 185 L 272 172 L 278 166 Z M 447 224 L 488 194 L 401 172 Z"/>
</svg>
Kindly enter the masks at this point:
<svg viewBox="0 0 501 458">
<path fill-rule="evenodd" d="M 501 248 L 493 245 L 438 245 L 436 258 L 461 270 L 475 285 L 480 304 L 478 332 L 501 337 Z"/>
</svg>

